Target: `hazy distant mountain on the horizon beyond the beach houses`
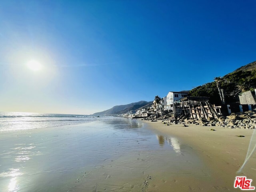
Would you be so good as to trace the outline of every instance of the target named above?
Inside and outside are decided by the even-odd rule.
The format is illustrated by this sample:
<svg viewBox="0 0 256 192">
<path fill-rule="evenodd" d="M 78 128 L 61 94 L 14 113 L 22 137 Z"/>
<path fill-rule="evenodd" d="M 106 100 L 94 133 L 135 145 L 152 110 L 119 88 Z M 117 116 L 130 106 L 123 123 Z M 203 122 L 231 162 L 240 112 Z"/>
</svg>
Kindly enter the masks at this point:
<svg viewBox="0 0 256 192">
<path fill-rule="evenodd" d="M 124 114 L 129 112 L 130 110 L 138 110 L 139 108 L 142 108 L 144 106 L 151 106 L 153 101 L 147 102 L 147 101 L 139 101 L 136 103 L 130 103 L 126 105 L 118 105 L 114 106 L 111 109 L 102 111 L 102 112 L 97 112 L 92 115 L 116 115 L 116 114 Z"/>
</svg>

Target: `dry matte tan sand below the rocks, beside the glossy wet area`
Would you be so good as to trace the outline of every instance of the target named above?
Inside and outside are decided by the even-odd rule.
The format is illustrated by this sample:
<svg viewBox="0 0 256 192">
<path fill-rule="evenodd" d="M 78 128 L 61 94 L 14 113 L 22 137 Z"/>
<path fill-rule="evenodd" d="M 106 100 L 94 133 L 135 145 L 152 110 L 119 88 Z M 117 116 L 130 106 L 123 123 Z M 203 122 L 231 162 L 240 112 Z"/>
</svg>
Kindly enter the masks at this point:
<svg viewBox="0 0 256 192">
<path fill-rule="evenodd" d="M 256 164 L 255 153 L 252 154 L 242 172 L 236 173 L 244 163 L 248 146 L 254 130 L 246 129 L 226 129 L 217 126 L 196 126 L 182 125 L 166 126 L 162 122 L 143 121 L 148 124 L 148 128 L 156 130 L 164 135 L 172 135 L 179 139 L 181 145 L 191 147 L 194 152 L 202 158 L 210 174 L 205 178 L 188 177 L 168 178 L 166 183 L 154 181 L 149 185 L 148 191 L 154 190 L 154 185 L 158 188 L 168 186 L 170 191 L 241 191 L 234 188 L 236 176 L 246 176 L 252 179 L 252 185 L 256 186 Z M 213 128 L 216 131 L 210 131 Z M 242 135 L 244 137 L 238 137 Z M 255 145 L 255 140 L 253 140 Z M 168 173 L 167 177 L 168 177 Z M 155 183 L 156 182 L 156 183 Z M 164 190 L 162 190 L 164 191 Z"/>
</svg>

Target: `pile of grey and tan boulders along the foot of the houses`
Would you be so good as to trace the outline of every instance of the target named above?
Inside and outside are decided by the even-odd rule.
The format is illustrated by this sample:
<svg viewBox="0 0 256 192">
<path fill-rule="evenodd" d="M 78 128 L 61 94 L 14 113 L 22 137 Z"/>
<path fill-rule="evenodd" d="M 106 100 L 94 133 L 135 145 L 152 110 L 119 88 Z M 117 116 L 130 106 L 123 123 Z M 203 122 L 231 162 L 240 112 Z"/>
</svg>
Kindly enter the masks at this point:
<svg viewBox="0 0 256 192">
<path fill-rule="evenodd" d="M 151 115 L 142 120 L 158 121 L 166 125 L 170 124 L 196 124 L 201 126 L 221 126 L 224 128 L 240 128 L 240 129 L 256 129 L 256 111 L 246 111 L 232 113 L 229 116 L 220 116 L 218 119 L 212 117 L 200 118 L 200 119 L 190 119 L 185 115 L 180 115 L 174 118 L 173 113 L 169 113 L 161 117 L 158 114 Z"/>
</svg>

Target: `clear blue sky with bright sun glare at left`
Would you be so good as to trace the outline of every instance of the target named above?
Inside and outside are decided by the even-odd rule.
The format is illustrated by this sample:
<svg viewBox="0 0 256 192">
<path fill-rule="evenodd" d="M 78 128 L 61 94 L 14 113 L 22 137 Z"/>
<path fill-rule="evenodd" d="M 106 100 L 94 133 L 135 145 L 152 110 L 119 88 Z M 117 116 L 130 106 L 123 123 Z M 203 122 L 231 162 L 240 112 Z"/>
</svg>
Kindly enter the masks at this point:
<svg viewBox="0 0 256 192">
<path fill-rule="evenodd" d="M 0 1 L 0 111 L 93 114 L 191 90 L 254 62 L 255 32 L 255 0 Z"/>
</svg>

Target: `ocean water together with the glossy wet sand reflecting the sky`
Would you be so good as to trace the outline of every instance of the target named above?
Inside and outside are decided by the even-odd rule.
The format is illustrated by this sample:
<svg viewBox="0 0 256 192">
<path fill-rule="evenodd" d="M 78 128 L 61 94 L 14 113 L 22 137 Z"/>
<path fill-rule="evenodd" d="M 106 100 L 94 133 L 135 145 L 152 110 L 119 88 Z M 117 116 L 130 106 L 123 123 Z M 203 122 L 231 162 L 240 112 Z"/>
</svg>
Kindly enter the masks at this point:
<svg viewBox="0 0 256 192">
<path fill-rule="evenodd" d="M 1 192 L 166 191 L 170 177 L 208 177 L 189 146 L 141 120 L 1 113 L 0 129 Z"/>
</svg>

